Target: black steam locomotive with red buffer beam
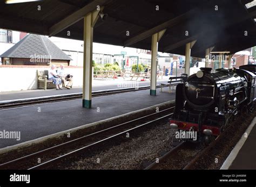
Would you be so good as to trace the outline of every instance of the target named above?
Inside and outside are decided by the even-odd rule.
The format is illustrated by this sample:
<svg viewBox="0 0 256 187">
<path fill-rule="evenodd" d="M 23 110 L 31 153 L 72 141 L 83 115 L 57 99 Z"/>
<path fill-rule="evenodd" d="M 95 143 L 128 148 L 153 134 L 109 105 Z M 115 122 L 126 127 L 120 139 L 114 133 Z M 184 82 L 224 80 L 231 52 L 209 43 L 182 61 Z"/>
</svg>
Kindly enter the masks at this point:
<svg viewBox="0 0 256 187">
<path fill-rule="evenodd" d="M 171 128 L 197 132 L 197 141 L 210 143 L 240 112 L 253 110 L 256 65 L 239 69 L 200 68 L 176 88 Z"/>
</svg>

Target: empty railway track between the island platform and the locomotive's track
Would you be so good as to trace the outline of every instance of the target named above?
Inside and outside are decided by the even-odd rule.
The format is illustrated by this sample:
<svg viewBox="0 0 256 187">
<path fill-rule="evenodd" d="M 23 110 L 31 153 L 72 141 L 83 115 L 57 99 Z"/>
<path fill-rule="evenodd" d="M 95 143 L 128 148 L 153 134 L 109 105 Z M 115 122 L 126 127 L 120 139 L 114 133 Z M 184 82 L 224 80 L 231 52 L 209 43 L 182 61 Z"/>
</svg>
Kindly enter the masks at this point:
<svg viewBox="0 0 256 187">
<path fill-rule="evenodd" d="M 78 154 L 82 150 L 86 150 L 89 147 L 98 146 L 101 142 L 106 142 L 127 132 L 137 130 L 138 128 L 146 127 L 147 125 L 156 123 L 156 121 L 159 121 L 161 119 L 166 119 L 171 116 L 173 110 L 174 107 L 169 107 L 168 109 L 148 114 L 144 117 L 133 119 L 131 121 L 127 121 L 125 123 L 106 128 L 105 130 L 91 133 L 89 135 L 85 135 L 80 138 L 40 150 L 39 152 L 19 157 L 15 160 L 7 161 L 0 164 L 0 169 L 47 168 L 49 166 L 52 166 L 52 164 L 62 161 L 65 158 Z M 150 118 L 152 119 L 150 120 Z M 38 158 L 40 158 L 43 162 L 38 164 Z"/>
</svg>

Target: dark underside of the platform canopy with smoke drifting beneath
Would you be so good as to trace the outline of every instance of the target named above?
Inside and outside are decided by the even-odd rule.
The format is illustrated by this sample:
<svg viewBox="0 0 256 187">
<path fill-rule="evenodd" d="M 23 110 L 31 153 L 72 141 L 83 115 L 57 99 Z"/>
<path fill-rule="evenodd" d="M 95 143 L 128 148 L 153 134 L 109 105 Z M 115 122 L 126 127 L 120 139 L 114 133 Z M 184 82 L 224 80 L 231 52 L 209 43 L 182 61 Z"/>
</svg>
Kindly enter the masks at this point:
<svg viewBox="0 0 256 187">
<path fill-rule="evenodd" d="M 94 42 L 151 50 L 152 34 L 166 29 L 159 52 L 185 55 L 185 44 L 194 40 L 191 56 L 196 57 L 204 57 L 212 46 L 232 54 L 256 45 L 252 0 L 4 2 L 0 0 L 0 28 L 9 30 L 83 40 L 83 17 L 99 5 L 107 17 L 98 19 Z"/>
</svg>

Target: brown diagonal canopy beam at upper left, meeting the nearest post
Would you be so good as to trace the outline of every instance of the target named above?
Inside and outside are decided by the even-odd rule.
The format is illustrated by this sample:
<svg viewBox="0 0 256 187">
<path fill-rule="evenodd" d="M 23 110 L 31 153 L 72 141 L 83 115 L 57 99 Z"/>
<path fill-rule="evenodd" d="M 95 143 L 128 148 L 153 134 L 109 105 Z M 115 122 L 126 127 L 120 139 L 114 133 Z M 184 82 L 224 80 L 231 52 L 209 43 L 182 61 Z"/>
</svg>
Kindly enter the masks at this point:
<svg viewBox="0 0 256 187">
<path fill-rule="evenodd" d="M 53 35 L 63 31 L 65 28 L 68 28 L 69 26 L 77 23 L 77 21 L 84 18 L 85 15 L 87 15 L 90 12 L 93 12 L 97 10 L 97 6 L 102 6 L 105 3 L 107 3 L 110 0 L 95 0 L 91 3 L 84 6 L 82 9 L 79 9 L 78 11 L 72 13 L 70 16 L 62 19 L 55 25 L 51 26 L 49 28 L 49 36 L 52 37 Z"/>
</svg>

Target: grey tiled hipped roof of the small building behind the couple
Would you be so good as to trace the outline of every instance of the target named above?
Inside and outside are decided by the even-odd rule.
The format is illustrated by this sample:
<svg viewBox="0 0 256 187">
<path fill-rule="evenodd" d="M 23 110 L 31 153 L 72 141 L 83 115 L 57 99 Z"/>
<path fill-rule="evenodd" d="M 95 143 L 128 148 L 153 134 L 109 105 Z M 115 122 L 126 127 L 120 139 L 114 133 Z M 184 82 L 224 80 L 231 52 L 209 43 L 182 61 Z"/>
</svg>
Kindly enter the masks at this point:
<svg viewBox="0 0 256 187">
<path fill-rule="evenodd" d="M 8 49 L 0 57 L 30 59 L 31 55 L 47 55 L 52 60 L 72 60 L 70 56 L 66 55 L 47 37 L 36 34 L 26 35 L 26 37 Z"/>
</svg>

